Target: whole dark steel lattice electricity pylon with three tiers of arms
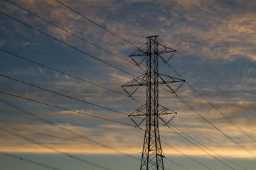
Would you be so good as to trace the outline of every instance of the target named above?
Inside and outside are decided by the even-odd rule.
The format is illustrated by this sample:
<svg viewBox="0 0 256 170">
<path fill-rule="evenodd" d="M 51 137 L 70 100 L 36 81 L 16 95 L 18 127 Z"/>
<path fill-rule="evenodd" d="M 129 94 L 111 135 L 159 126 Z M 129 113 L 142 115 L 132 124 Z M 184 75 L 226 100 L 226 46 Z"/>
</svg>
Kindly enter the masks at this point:
<svg viewBox="0 0 256 170">
<path fill-rule="evenodd" d="M 139 67 L 146 59 L 146 73 L 122 86 L 123 89 L 124 87 L 137 86 L 132 93 L 128 92 L 127 89 L 124 89 L 129 96 L 132 96 L 139 86 L 146 86 L 146 104 L 129 115 L 138 127 L 144 120 L 146 120 L 142 161 L 140 166 L 141 170 L 164 170 L 164 152 L 161 148 L 159 135 L 159 119 L 161 119 L 164 124 L 168 124 L 172 118 L 174 118 L 174 115 L 177 114 L 176 112 L 159 105 L 159 85 L 165 89 L 165 84 L 169 91 L 175 93 L 184 82 L 183 79 L 159 73 L 159 60 L 162 60 L 165 63 L 168 62 L 176 50 L 159 44 L 158 37 L 158 35 L 146 37 L 146 44 L 142 45 L 142 47 L 129 56 Z M 164 57 L 164 54 L 167 53 L 171 53 L 171 55 L 166 58 Z M 169 86 L 169 84 L 176 82 L 181 82 L 182 84 L 178 87 L 176 86 L 176 89 Z M 168 120 L 165 120 L 161 117 L 164 115 L 172 116 Z M 140 118 L 139 123 L 134 120 L 134 117 Z"/>
</svg>

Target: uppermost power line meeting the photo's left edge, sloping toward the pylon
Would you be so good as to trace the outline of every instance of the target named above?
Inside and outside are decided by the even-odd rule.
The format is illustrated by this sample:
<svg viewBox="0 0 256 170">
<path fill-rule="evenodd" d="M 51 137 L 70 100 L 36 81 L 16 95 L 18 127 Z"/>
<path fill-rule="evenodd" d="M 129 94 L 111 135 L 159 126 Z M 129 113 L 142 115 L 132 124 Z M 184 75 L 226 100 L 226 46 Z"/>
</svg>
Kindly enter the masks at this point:
<svg viewBox="0 0 256 170">
<path fill-rule="evenodd" d="M 115 68 L 115 69 L 118 69 L 118 70 L 121 71 L 121 72 L 127 73 L 127 74 L 129 74 L 129 75 L 131 75 L 131 76 L 133 76 L 133 77 L 136 77 L 134 74 L 130 74 L 129 72 L 127 72 L 127 71 L 125 71 L 125 70 L 123 70 L 123 69 L 120 69 L 119 67 L 114 66 L 113 64 L 109 64 L 109 63 L 107 63 L 107 62 L 105 62 L 105 61 L 103 61 L 103 60 L 98 59 L 98 58 L 95 57 L 95 56 L 92 56 L 92 55 L 88 54 L 87 52 L 84 52 L 84 51 L 82 51 L 82 50 L 79 50 L 77 47 L 73 47 L 72 45 L 69 45 L 68 43 L 63 42 L 62 40 L 59 40 L 58 38 L 54 38 L 53 36 L 48 35 L 47 33 L 44 33 L 43 31 L 38 30 L 37 28 L 34 28 L 33 26 L 29 26 L 27 23 L 24 23 L 24 22 L 22 22 L 22 21 L 20 21 L 20 20 L 18 20 L 18 19 L 16 19 L 16 18 L 14 18 L 14 17 L 12 17 L 12 16 L 9 16 L 8 14 L 6 14 L 6 13 L 4 13 L 4 12 L 2 12 L 2 11 L 0 11 L 0 13 L 4 14 L 5 16 L 8 16 L 9 18 L 14 19 L 15 21 L 18 21 L 19 23 L 22 23 L 22 24 L 25 25 L 25 26 L 28 26 L 29 28 L 32 28 L 33 30 L 38 31 L 39 33 L 42 33 L 43 35 L 48 36 L 49 38 L 52 38 L 53 40 L 56 40 L 56 41 L 62 43 L 63 45 L 67 45 L 68 47 L 71 47 L 71 48 L 73 48 L 74 50 L 77 50 L 78 52 L 81 52 L 81 53 L 84 54 L 84 55 L 87 55 L 87 56 L 89 56 L 89 57 L 92 57 L 93 59 L 95 59 L 95 60 L 97 60 L 97 61 L 99 61 L 99 62 L 102 62 L 102 63 L 104 63 L 104 64 L 107 64 L 108 66 L 113 67 L 113 68 Z"/>
</svg>

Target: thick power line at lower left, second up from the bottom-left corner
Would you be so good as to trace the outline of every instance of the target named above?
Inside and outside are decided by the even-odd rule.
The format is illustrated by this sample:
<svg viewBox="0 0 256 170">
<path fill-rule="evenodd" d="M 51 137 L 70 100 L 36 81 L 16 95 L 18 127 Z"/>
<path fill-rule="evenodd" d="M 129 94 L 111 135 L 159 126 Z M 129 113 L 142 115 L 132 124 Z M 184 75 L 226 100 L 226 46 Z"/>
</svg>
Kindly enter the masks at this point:
<svg viewBox="0 0 256 170">
<path fill-rule="evenodd" d="M 102 166 L 102 165 L 100 165 L 100 164 L 96 164 L 96 163 L 94 163 L 94 162 L 87 161 L 86 159 L 82 159 L 82 158 L 77 157 L 77 156 L 75 156 L 75 155 L 73 155 L 73 154 L 68 154 L 68 153 L 66 153 L 66 152 L 60 151 L 59 149 L 55 149 L 54 147 L 50 147 L 50 146 L 48 146 L 48 145 L 43 145 L 41 142 L 38 142 L 38 141 L 36 141 L 36 140 L 32 140 L 31 138 L 25 137 L 25 136 L 23 136 L 23 135 L 19 135 L 19 134 L 17 134 L 16 132 L 12 132 L 11 130 L 7 130 L 6 128 L 0 127 L 0 130 L 3 131 L 3 132 L 8 133 L 8 134 L 10 134 L 10 135 L 14 135 L 15 137 L 18 137 L 18 138 L 21 138 L 21 139 L 26 140 L 26 141 L 28 141 L 28 142 L 31 142 L 31 143 L 33 143 L 33 144 L 39 145 L 39 146 L 41 146 L 41 147 L 44 147 L 44 148 L 46 148 L 46 149 L 50 149 L 50 150 L 52 150 L 53 152 L 56 152 L 56 153 L 58 153 L 58 154 L 63 154 L 65 157 L 70 157 L 70 158 L 72 158 L 72 159 L 75 159 L 75 160 L 77 160 L 77 161 L 83 162 L 83 163 L 85 163 L 85 164 L 90 164 L 90 165 L 95 166 L 95 167 L 97 167 L 97 168 L 99 168 L 99 169 L 110 170 L 110 169 L 108 169 L 107 167 Z"/>
</svg>

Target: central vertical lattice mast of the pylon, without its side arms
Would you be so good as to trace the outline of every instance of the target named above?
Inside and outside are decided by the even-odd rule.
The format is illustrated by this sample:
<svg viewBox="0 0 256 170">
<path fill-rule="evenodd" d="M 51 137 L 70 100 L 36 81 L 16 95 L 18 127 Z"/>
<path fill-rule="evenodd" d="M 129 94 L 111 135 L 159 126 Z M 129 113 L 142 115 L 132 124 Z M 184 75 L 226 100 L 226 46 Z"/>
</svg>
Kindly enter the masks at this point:
<svg viewBox="0 0 256 170">
<path fill-rule="evenodd" d="M 159 56 L 157 36 L 146 38 L 146 131 L 141 169 L 164 169 L 159 136 Z"/>
</svg>

